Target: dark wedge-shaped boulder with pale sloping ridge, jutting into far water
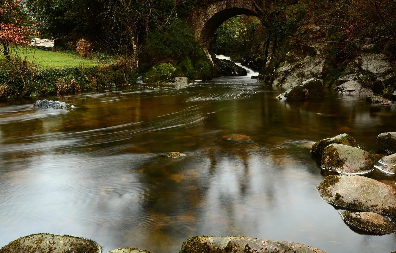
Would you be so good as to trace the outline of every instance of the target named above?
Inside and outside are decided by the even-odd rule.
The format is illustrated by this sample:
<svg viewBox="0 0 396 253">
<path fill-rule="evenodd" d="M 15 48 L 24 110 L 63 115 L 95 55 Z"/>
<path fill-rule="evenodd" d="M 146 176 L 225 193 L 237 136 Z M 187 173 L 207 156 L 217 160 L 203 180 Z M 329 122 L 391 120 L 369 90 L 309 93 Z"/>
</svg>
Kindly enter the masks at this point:
<svg viewBox="0 0 396 253">
<path fill-rule="evenodd" d="M 324 97 L 324 85 L 322 79 L 316 79 L 315 77 L 307 81 L 302 82 L 299 85 L 295 85 L 276 98 L 279 100 L 306 100 L 306 99 L 318 99 Z"/>
</svg>

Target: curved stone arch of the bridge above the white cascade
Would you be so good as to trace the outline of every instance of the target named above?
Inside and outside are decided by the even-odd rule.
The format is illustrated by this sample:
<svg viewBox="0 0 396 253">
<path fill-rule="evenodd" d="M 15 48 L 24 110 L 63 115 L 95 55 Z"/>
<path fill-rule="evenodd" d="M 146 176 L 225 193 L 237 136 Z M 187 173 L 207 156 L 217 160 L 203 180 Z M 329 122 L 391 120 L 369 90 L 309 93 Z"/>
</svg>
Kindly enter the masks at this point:
<svg viewBox="0 0 396 253">
<path fill-rule="evenodd" d="M 188 23 L 202 48 L 208 50 L 217 28 L 230 17 L 237 15 L 257 16 L 252 0 L 223 0 L 199 6 L 188 17 Z"/>
</svg>

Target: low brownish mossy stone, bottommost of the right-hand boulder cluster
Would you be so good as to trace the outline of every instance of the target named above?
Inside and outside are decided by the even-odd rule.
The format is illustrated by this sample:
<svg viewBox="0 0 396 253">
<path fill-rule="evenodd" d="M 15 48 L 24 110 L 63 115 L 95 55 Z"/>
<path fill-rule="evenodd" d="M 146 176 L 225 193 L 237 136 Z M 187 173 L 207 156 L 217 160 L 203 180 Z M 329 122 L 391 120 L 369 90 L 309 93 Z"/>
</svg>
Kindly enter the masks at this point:
<svg viewBox="0 0 396 253">
<path fill-rule="evenodd" d="M 340 215 L 345 223 L 352 228 L 380 235 L 396 232 L 395 225 L 378 213 L 353 213 L 344 211 L 341 212 Z"/>
</svg>

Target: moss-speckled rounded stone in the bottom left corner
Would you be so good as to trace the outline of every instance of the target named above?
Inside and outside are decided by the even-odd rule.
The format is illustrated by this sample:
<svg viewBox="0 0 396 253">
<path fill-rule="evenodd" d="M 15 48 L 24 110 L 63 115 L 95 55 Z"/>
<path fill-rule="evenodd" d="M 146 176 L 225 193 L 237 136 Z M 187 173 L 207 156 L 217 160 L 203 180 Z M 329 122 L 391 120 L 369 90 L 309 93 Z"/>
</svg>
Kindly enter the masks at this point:
<svg viewBox="0 0 396 253">
<path fill-rule="evenodd" d="M 92 240 L 74 236 L 33 234 L 8 243 L 0 253 L 101 253 L 101 247 Z"/>
</svg>

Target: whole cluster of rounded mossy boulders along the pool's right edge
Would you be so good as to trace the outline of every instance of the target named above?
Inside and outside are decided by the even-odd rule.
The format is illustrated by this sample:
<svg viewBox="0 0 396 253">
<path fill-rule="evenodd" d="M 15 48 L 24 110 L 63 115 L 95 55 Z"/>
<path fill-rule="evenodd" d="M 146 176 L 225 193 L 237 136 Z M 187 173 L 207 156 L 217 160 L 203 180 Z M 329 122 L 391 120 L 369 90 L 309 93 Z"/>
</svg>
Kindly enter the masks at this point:
<svg viewBox="0 0 396 253">
<path fill-rule="evenodd" d="M 340 213 L 353 230 L 380 235 L 396 232 L 395 188 L 367 177 L 374 168 L 395 173 L 394 136 L 396 133 L 378 136 L 377 144 L 390 154 L 379 161 L 375 159 L 378 156 L 360 149 L 348 134 L 320 140 L 312 146 L 311 154 L 322 157 L 321 168 L 330 174 L 317 186 L 320 196 L 331 205 L 357 211 Z"/>
</svg>

